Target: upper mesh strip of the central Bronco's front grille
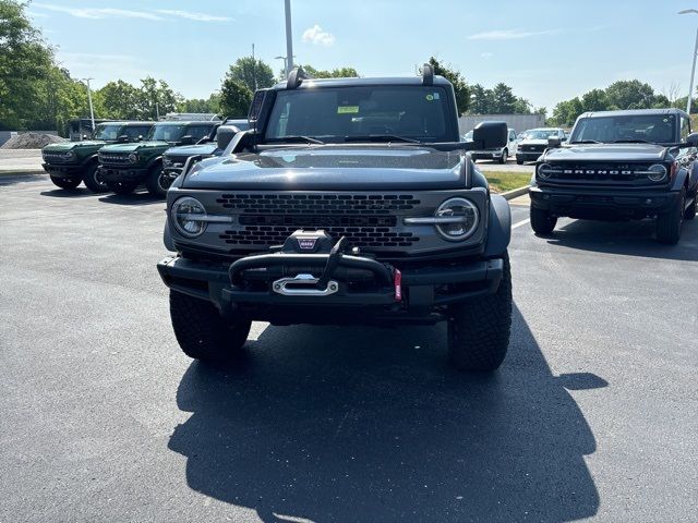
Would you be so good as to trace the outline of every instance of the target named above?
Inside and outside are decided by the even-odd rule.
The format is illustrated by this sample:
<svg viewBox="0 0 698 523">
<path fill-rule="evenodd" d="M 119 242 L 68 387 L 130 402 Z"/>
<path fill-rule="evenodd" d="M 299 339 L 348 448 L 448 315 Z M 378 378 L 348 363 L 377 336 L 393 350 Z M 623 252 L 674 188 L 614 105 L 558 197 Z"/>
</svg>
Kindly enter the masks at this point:
<svg viewBox="0 0 698 523">
<path fill-rule="evenodd" d="M 216 202 L 264 215 L 389 215 L 420 204 L 411 194 L 224 194 Z"/>
</svg>

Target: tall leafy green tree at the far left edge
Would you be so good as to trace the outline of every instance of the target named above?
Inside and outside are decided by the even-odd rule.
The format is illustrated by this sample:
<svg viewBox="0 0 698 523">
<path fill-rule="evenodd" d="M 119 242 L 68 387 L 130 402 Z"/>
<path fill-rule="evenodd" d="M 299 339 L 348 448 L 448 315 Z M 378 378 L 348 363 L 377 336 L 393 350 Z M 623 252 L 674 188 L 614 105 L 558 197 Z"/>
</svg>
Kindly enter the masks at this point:
<svg viewBox="0 0 698 523">
<path fill-rule="evenodd" d="M 26 129 L 36 119 L 35 100 L 53 61 L 25 7 L 0 0 L 0 122 L 9 129 Z"/>
</svg>

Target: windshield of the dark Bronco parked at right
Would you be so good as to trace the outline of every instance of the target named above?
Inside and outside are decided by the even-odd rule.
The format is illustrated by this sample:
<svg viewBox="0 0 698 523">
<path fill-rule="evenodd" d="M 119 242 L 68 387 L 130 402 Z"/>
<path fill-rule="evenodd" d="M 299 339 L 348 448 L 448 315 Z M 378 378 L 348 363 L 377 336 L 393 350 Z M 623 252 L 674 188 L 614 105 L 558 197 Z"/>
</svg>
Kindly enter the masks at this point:
<svg viewBox="0 0 698 523">
<path fill-rule="evenodd" d="M 674 114 L 582 118 L 575 125 L 570 142 L 651 142 L 671 144 L 677 142 L 675 130 Z"/>
</svg>

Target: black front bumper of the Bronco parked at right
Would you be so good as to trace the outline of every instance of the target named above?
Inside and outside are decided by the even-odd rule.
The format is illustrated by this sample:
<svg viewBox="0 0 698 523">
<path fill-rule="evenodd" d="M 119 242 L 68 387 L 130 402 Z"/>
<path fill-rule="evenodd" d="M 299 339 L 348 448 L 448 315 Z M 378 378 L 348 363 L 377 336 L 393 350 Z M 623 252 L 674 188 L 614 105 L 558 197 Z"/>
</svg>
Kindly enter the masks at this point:
<svg viewBox="0 0 698 523">
<path fill-rule="evenodd" d="M 666 212 L 679 200 L 676 191 L 633 188 L 530 187 L 531 205 L 553 216 L 571 218 L 645 218 Z"/>
</svg>

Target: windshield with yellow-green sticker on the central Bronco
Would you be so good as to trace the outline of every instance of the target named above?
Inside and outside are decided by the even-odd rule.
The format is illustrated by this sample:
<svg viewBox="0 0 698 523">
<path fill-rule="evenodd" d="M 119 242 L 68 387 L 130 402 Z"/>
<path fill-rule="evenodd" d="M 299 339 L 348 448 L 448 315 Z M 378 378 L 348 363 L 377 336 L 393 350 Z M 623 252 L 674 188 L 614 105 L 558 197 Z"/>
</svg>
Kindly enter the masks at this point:
<svg viewBox="0 0 698 523">
<path fill-rule="evenodd" d="M 447 142 L 446 90 L 436 86 L 359 86 L 279 92 L 266 142 L 404 137 Z"/>
</svg>

